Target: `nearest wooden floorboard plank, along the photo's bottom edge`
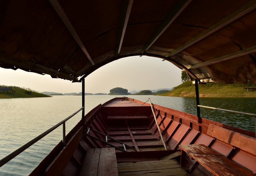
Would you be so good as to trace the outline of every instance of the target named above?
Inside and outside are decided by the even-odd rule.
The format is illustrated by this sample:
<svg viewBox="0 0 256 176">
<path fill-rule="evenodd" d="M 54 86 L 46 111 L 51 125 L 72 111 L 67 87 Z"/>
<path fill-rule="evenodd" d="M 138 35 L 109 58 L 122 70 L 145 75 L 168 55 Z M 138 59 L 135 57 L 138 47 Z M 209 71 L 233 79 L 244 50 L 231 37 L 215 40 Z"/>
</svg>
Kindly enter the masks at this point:
<svg viewBox="0 0 256 176">
<path fill-rule="evenodd" d="M 132 175 L 132 176 L 187 176 L 186 172 L 181 168 L 169 168 L 169 169 L 160 169 L 160 170 L 151 170 L 151 171 L 136 171 L 136 172 L 120 172 L 119 175 Z"/>
</svg>

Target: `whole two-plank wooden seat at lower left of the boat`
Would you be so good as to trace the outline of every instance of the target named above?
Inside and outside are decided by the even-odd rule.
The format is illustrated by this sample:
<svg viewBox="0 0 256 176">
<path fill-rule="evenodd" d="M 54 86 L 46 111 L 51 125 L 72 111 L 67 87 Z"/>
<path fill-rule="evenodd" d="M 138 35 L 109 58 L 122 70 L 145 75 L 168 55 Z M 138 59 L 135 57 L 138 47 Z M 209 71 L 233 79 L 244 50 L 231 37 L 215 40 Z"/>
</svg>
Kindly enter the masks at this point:
<svg viewBox="0 0 256 176">
<path fill-rule="evenodd" d="M 88 149 L 79 176 L 118 176 L 114 148 Z"/>
</svg>

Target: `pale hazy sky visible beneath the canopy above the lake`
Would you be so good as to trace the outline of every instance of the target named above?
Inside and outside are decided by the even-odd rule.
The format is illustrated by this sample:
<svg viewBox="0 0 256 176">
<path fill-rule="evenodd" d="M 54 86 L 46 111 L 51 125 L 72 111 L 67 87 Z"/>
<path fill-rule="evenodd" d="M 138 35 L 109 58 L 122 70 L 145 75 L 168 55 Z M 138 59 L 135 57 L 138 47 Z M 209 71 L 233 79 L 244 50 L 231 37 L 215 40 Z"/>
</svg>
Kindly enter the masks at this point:
<svg viewBox="0 0 256 176">
<path fill-rule="evenodd" d="M 49 75 L 0 68 L 0 85 L 27 87 L 40 92 L 79 93 L 81 83 Z M 172 88 L 181 83 L 181 69 L 160 58 L 133 56 L 115 60 L 85 78 L 86 93 L 109 93 L 115 87 L 130 91 Z"/>
</svg>

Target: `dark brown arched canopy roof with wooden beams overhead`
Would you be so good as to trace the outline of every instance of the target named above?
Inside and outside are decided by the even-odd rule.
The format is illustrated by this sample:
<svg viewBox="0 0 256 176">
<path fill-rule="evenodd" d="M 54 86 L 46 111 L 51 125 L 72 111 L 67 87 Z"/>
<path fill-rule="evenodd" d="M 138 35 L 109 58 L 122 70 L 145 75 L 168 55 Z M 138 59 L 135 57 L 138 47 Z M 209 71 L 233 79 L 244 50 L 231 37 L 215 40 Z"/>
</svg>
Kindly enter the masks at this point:
<svg viewBox="0 0 256 176">
<path fill-rule="evenodd" d="M 148 55 L 201 81 L 256 83 L 255 8 L 256 0 L 0 0 L 0 67 L 79 81 Z"/>
</svg>

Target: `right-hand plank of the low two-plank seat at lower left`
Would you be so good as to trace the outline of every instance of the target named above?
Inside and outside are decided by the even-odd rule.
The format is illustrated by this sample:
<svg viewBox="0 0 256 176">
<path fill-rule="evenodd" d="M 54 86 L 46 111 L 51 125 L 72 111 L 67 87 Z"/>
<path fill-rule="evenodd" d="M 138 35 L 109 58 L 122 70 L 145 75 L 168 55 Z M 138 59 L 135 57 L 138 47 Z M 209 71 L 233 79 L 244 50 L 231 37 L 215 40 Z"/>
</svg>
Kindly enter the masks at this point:
<svg viewBox="0 0 256 176">
<path fill-rule="evenodd" d="M 114 148 L 102 148 L 100 152 L 98 176 L 118 176 L 118 167 Z"/>
</svg>

